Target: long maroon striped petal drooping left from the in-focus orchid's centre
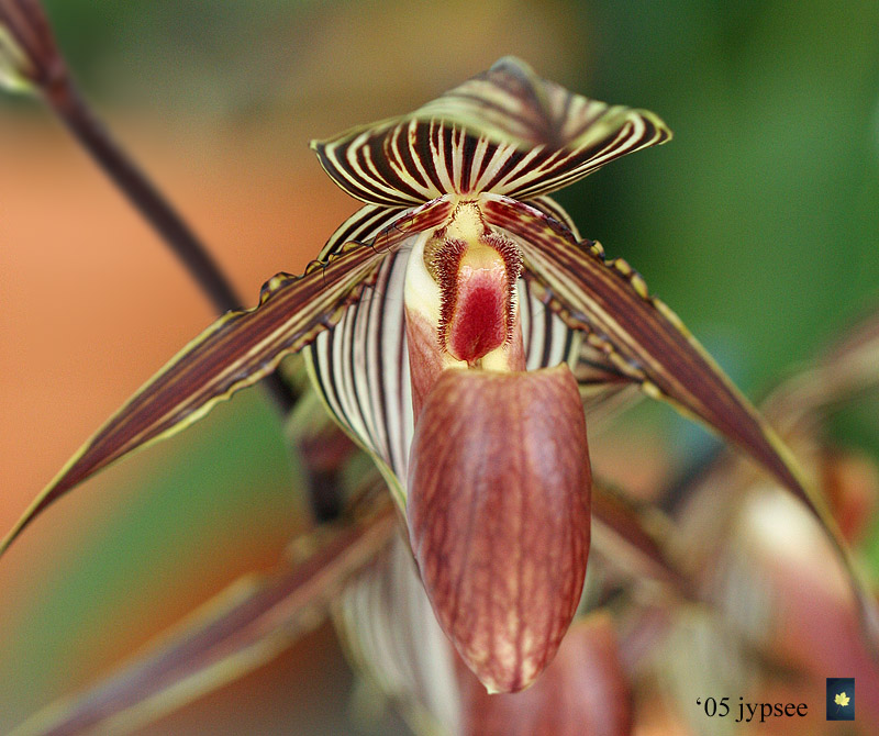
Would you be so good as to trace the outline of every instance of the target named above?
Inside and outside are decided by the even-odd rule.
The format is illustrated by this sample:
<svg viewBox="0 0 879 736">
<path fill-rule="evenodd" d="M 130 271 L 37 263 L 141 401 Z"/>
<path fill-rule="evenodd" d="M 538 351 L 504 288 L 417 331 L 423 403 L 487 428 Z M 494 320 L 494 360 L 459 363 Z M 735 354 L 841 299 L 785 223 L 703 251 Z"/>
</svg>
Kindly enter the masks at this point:
<svg viewBox="0 0 879 736">
<path fill-rule="evenodd" d="M 80 448 L 0 543 L 0 554 L 44 509 L 86 478 L 179 432 L 271 372 L 283 356 L 335 324 L 341 308 L 359 295 L 382 258 L 447 215 L 444 200 L 429 203 L 398 216 L 372 242 L 351 242 L 327 260 L 313 261 L 302 276 L 279 274 L 269 280 L 258 306 L 230 312 L 208 327 Z"/>
</svg>

